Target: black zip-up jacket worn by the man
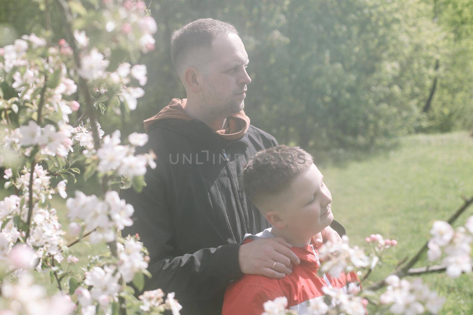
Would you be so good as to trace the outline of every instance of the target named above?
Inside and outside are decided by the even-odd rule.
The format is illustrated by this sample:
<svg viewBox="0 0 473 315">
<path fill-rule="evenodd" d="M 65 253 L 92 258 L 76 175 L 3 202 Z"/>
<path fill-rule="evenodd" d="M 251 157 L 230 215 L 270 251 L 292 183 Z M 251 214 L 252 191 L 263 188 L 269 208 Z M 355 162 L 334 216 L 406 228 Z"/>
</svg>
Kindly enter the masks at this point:
<svg viewBox="0 0 473 315">
<path fill-rule="evenodd" d="M 246 198 L 238 177 L 247 160 L 276 139 L 250 125 L 225 140 L 200 120 L 163 119 L 149 128 L 157 168 L 148 169 L 140 194 L 122 192 L 133 205 L 133 225 L 149 250 L 152 279 L 144 290 L 175 292 L 181 314 L 220 314 L 227 285 L 242 273 L 238 249 L 245 233 L 270 227 Z"/>
</svg>

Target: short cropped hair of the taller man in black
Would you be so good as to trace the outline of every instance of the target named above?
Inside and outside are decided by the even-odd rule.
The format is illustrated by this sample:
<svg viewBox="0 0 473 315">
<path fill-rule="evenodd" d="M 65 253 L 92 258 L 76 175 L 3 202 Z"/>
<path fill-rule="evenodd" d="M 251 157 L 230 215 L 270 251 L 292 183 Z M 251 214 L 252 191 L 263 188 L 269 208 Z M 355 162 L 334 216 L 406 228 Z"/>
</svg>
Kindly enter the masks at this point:
<svg viewBox="0 0 473 315">
<path fill-rule="evenodd" d="M 230 33 L 238 35 L 235 26 L 213 18 L 200 18 L 175 30 L 171 35 L 171 60 L 177 73 L 180 75 L 184 70 L 189 56 L 205 56 L 204 52 L 212 47 L 214 38 Z"/>
</svg>

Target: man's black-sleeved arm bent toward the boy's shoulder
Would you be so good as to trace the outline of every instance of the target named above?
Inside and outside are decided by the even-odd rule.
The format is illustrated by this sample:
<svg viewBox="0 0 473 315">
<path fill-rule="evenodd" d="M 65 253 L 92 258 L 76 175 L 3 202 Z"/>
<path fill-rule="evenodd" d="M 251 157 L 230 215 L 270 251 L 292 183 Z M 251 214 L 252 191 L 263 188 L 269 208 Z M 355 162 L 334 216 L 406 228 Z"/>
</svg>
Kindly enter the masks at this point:
<svg viewBox="0 0 473 315">
<path fill-rule="evenodd" d="M 122 236 L 138 233 L 148 248 L 150 262 L 144 290 L 161 288 L 175 292 L 176 298 L 207 299 L 239 278 L 239 244 L 203 248 L 193 254 L 178 255 L 174 247 L 172 213 L 166 198 L 165 185 L 155 170 L 148 169 L 146 183 L 140 194 L 123 190 L 122 198 L 133 205 L 133 225 Z M 138 293 L 138 292 L 137 292 Z"/>
</svg>

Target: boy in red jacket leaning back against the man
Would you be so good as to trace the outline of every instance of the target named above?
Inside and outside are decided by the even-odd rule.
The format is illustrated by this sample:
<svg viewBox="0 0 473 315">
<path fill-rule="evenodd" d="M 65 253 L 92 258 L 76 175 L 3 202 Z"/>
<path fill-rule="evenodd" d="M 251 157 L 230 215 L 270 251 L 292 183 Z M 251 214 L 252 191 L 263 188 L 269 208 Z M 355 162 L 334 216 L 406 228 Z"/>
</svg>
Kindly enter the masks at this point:
<svg viewBox="0 0 473 315">
<path fill-rule="evenodd" d="M 242 171 L 245 192 L 272 224 L 257 235 L 245 235 L 244 243 L 255 238 L 284 238 L 301 263 L 283 279 L 246 274 L 228 286 L 222 315 L 261 315 L 263 303 L 278 297 L 288 299 L 288 307 L 306 314 L 309 300 L 323 299 L 323 287 L 345 293 L 357 281 L 353 273 L 338 278 L 317 275 L 319 261 L 312 237 L 333 221 L 332 195 L 312 156 L 298 147 L 279 145 L 258 152 Z M 268 257 L 268 268 L 277 264 Z M 350 285 L 350 288 L 349 288 Z"/>
</svg>

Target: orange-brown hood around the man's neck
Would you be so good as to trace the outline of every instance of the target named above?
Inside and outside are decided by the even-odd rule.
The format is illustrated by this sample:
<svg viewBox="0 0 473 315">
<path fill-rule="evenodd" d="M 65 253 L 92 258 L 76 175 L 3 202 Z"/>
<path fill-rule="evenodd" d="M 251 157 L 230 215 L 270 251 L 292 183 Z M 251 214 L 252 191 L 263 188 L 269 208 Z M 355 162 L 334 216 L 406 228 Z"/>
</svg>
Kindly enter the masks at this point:
<svg viewBox="0 0 473 315">
<path fill-rule="evenodd" d="M 155 116 L 148 118 L 143 121 L 145 125 L 145 130 L 148 132 L 149 127 L 160 119 L 183 119 L 183 120 L 192 120 L 193 118 L 187 115 L 184 111 L 185 104 L 187 99 L 178 99 L 173 98 L 172 101 L 158 112 Z M 215 131 L 218 136 L 221 136 L 227 140 L 238 139 L 239 137 L 245 135 L 248 127 L 250 126 L 250 118 L 245 115 L 245 112 L 239 111 L 236 114 L 233 114 L 227 117 L 228 128 Z"/>
</svg>

